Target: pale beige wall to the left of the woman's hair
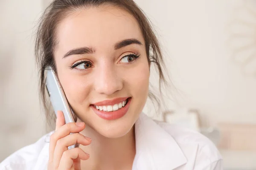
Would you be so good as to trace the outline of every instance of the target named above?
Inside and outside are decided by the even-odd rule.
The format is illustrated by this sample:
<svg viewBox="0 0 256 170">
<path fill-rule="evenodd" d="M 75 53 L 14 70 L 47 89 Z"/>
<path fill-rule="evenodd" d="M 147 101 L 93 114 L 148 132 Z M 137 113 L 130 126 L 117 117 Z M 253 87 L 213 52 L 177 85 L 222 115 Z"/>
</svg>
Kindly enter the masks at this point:
<svg viewBox="0 0 256 170">
<path fill-rule="evenodd" d="M 45 133 L 33 55 L 39 0 L 0 1 L 0 161 Z"/>
</svg>

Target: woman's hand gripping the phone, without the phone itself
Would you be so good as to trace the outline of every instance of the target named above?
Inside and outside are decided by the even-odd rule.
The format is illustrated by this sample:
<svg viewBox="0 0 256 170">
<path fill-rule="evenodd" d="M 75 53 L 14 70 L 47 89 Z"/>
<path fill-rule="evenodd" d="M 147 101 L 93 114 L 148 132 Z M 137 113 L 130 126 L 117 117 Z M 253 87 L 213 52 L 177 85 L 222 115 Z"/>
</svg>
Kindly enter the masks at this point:
<svg viewBox="0 0 256 170">
<path fill-rule="evenodd" d="M 89 154 L 79 147 L 70 150 L 67 147 L 91 143 L 90 138 L 78 133 L 84 127 L 83 122 L 65 124 L 63 113 L 58 111 L 55 132 L 50 137 L 48 170 L 81 170 L 80 160 L 89 159 Z"/>
</svg>

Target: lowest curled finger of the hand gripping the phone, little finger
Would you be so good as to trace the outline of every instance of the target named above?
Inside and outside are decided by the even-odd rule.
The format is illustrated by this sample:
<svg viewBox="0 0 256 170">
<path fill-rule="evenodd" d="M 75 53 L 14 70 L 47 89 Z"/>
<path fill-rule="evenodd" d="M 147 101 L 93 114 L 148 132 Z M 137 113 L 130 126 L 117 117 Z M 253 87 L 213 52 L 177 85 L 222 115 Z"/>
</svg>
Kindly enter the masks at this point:
<svg viewBox="0 0 256 170">
<path fill-rule="evenodd" d="M 61 157 L 58 169 L 60 170 L 70 170 L 73 165 L 74 159 L 76 160 L 76 169 L 81 170 L 80 168 L 80 161 L 78 160 L 87 160 L 89 159 L 90 155 L 85 153 L 81 148 L 76 147 L 70 150 L 66 150 Z"/>
</svg>

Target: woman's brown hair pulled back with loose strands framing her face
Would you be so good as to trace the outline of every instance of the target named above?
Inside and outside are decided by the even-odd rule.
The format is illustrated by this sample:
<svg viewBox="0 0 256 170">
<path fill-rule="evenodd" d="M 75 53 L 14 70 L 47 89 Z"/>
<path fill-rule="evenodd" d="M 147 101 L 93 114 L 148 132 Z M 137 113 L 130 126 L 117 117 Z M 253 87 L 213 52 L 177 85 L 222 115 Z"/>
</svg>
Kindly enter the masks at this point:
<svg viewBox="0 0 256 170">
<path fill-rule="evenodd" d="M 39 68 L 39 91 L 41 102 L 46 111 L 47 120 L 49 117 L 55 117 L 55 114 L 50 114 L 49 101 L 45 91 L 45 68 L 51 66 L 55 72 L 55 61 L 53 51 L 56 45 L 56 26 L 68 14 L 77 11 L 78 9 L 86 9 L 99 6 L 116 6 L 128 11 L 137 20 L 145 40 L 145 50 L 149 65 L 154 64 L 157 73 L 159 74 L 159 87 L 161 92 L 162 82 L 165 82 L 163 75 L 164 63 L 163 56 L 160 50 L 160 45 L 157 37 L 154 34 L 151 23 L 143 13 L 142 9 L 134 3 L 133 0 L 54 0 L 46 8 L 39 20 L 38 30 L 35 39 L 35 57 Z M 148 94 L 149 98 L 160 102 L 152 93 Z"/>
</svg>

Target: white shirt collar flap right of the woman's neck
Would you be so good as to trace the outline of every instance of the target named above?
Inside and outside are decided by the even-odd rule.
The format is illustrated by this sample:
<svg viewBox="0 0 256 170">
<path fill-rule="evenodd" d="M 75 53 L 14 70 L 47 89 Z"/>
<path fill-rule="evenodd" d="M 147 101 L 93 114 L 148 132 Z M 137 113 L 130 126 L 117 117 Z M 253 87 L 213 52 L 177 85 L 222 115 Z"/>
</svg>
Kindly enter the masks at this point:
<svg viewBox="0 0 256 170">
<path fill-rule="evenodd" d="M 135 138 L 133 170 L 173 170 L 187 162 L 175 139 L 144 113 L 135 123 Z"/>
</svg>

